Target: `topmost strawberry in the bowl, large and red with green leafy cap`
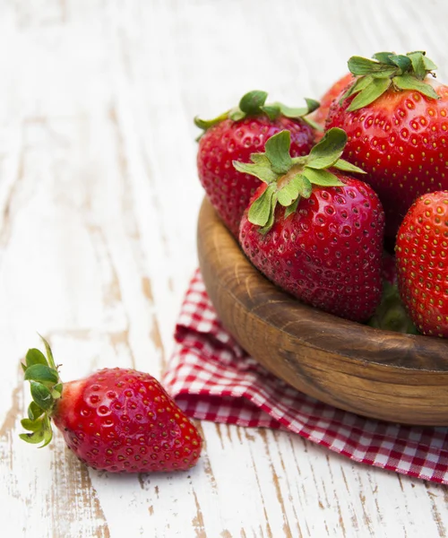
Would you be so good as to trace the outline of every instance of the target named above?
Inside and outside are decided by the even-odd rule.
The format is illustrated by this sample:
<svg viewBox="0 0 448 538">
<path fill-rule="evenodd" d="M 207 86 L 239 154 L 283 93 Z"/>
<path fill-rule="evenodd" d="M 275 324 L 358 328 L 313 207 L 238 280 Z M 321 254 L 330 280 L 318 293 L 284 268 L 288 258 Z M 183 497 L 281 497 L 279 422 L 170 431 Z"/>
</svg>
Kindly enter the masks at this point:
<svg viewBox="0 0 448 538">
<path fill-rule="evenodd" d="M 394 242 L 412 202 L 448 188 L 448 87 L 429 80 L 436 68 L 424 52 L 349 59 L 358 79 L 335 101 L 327 128 L 349 137 L 344 158 L 366 170 Z"/>
</svg>

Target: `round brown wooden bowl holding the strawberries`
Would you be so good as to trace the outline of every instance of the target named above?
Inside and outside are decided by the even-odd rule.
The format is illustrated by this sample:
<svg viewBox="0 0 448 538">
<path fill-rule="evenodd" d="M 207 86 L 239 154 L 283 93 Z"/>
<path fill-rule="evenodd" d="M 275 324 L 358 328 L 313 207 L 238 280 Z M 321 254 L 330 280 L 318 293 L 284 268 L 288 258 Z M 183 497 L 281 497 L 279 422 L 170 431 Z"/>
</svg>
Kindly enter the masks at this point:
<svg viewBox="0 0 448 538">
<path fill-rule="evenodd" d="M 289 385 L 384 421 L 448 426 L 448 341 L 382 331 L 280 291 L 247 260 L 204 200 L 198 254 L 224 327 Z"/>
</svg>

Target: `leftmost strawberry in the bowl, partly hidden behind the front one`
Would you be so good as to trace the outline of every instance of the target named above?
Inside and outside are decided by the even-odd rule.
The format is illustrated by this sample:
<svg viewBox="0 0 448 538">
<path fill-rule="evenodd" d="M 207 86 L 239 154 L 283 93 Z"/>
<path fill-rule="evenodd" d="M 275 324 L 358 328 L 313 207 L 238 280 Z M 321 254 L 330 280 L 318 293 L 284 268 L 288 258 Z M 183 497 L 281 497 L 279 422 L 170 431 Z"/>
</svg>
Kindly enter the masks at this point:
<svg viewBox="0 0 448 538">
<path fill-rule="evenodd" d="M 248 161 L 251 153 L 262 151 L 272 134 L 288 129 L 291 152 L 306 155 L 314 144 L 314 124 L 306 114 L 319 106 L 306 100 L 306 108 L 289 108 L 281 103 L 265 105 L 267 93 L 250 91 L 237 108 L 215 119 L 196 117 L 196 126 L 204 129 L 199 139 L 197 169 L 202 187 L 228 230 L 237 237 L 239 221 L 254 191 L 258 178 L 238 172 L 232 161 Z"/>
</svg>

